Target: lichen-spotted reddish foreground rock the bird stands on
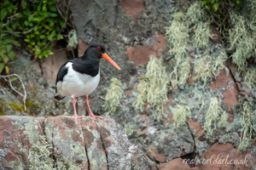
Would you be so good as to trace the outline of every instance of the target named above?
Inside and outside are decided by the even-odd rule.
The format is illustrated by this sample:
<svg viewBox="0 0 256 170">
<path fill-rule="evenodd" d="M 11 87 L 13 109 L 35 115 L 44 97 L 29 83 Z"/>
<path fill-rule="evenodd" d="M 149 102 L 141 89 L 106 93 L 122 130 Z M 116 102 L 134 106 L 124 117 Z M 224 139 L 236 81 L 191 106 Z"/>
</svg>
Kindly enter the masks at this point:
<svg viewBox="0 0 256 170">
<path fill-rule="evenodd" d="M 151 168 L 123 127 L 107 116 L 1 116 L 0 129 L 0 169 Z"/>
</svg>

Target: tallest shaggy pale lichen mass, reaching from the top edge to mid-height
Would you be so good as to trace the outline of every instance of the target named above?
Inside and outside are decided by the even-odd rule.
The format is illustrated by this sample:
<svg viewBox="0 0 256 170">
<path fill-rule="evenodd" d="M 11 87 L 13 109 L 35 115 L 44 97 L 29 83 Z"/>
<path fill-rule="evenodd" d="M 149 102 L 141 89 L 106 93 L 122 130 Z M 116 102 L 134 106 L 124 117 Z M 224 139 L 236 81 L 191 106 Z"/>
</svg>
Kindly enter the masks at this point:
<svg viewBox="0 0 256 170">
<path fill-rule="evenodd" d="M 183 86 L 190 77 L 190 58 L 188 55 L 189 42 L 195 48 L 207 48 L 212 38 L 211 20 L 201 5 L 193 3 L 187 13 L 173 14 L 172 24 L 166 27 L 166 38 L 171 44 L 170 54 L 174 55 L 175 65 L 170 74 L 172 88 Z M 194 32 L 192 38 L 189 33 Z"/>
</svg>

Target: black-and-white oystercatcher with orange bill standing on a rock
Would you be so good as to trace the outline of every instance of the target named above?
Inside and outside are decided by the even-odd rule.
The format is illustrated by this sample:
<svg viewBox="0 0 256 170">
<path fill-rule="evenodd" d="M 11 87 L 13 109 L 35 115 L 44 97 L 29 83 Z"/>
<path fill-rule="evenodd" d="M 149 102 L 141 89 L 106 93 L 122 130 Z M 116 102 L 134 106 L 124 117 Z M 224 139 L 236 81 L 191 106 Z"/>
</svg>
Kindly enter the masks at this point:
<svg viewBox="0 0 256 170">
<path fill-rule="evenodd" d="M 113 59 L 106 53 L 102 43 L 93 43 L 86 49 L 82 57 L 67 61 L 58 72 L 55 83 L 55 99 L 63 99 L 70 96 L 73 99 L 74 117 L 78 116 L 76 111 L 76 99 L 85 95 L 85 103 L 89 110 L 89 116 L 96 120 L 101 116 L 95 116 L 90 111 L 88 95 L 92 93 L 100 82 L 100 59 L 107 59 L 110 64 L 121 70 Z"/>
</svg>

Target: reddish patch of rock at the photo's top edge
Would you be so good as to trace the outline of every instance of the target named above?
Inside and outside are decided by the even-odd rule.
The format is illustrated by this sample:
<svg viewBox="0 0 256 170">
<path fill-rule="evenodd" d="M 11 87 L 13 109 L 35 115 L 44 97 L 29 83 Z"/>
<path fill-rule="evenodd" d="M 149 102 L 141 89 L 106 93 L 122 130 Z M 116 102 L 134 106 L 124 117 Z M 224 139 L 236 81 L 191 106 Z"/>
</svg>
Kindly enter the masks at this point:
<svg viewBox="0 0 256 170">
<path fill-rule="evenodd" d="M 123 0 L 120 6 L 124 8 L 126 15 L 131 15 L 133 22 L 137 21 L 136 14 L 145 8 L 143 0 Z"/>
</svg>

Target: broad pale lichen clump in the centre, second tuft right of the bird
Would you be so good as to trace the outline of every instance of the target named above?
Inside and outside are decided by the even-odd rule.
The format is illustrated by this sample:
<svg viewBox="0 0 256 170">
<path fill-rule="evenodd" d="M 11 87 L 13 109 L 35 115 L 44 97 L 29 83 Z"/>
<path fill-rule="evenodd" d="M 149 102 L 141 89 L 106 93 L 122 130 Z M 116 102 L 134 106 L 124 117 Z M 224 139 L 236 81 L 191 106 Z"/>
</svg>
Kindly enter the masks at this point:
<svg viewBox="0 0 256 170">
<path fill-rule="evenodd" d="M 141 76 L 138 84 L 137 90 L 139 94 L 134 107 L 139 111 L 144 111 L 144 105 L 148 103 L 148 107 L 155 109 L 157 120 L 160 121 L 164 115 L 168 82 L 166 67 L 163 66 L 160 59 L 151 55 L 147 65 L 147 72 Z"/>
</svg>

